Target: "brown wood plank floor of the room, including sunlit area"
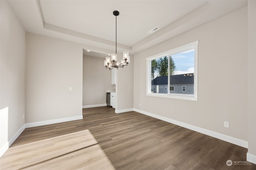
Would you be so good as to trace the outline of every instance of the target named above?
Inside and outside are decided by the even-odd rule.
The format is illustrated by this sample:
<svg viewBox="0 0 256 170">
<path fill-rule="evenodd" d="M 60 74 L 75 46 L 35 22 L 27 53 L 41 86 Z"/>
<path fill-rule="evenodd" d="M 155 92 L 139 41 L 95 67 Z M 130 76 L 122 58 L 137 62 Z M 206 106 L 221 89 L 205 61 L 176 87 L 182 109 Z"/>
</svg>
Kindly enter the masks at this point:
<svg viewBox="0 0 256 170">
<path fill-rule="evenodd" d="M 25 129 L 0 158 L 0 170 L 256 170 L 247 149 L 177 125 L 110 107 L 83 109 L 83 120 Z"/>
</svg>

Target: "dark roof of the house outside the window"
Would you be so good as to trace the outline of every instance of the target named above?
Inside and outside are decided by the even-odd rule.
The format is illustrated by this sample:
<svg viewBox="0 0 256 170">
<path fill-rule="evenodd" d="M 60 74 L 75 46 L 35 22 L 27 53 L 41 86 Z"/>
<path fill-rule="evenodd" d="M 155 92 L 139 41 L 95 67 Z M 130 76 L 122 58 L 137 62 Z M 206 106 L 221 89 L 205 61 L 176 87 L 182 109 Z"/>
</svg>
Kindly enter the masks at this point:
<svg viewBox="0 0 256 170">
<path fill-rule="evenodd" d="M 168 76 L 158 76 L 151 81 L 152 85 L 167 85 Z M 170 76 L 170 85 L 194 84 L 194 73 L 178 74 Z"/>
</svg>

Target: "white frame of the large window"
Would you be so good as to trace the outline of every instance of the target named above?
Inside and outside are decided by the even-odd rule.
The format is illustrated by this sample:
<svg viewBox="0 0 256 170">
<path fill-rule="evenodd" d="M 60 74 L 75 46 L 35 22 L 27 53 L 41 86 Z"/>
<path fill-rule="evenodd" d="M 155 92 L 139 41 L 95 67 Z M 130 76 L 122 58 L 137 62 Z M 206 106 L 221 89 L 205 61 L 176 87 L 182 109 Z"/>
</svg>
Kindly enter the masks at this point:
<svg viewBox="0 0 256 170">
<path fill-rule="evenodd" d="M 183 100 L 198 100 L 198 43 L 199 41 L 194 41 L 192 43 L 188 43 L 186 45 L 182 45 L 180 47 L 171 49 L 169 51 L 165 51 L 163 53 L 159 53 L 157 55 L 153 55 L 146 58 L 146 96 L 154 96 L 154 97 L 163 97 L 163 98 L 174 98 L 174 99 L 183 99 Z M 194 49 L 194 94 L 160 94 L 160 93 L 151 93 L 151 61 L 154 59 L 158 59 L 164 56 L 171 56 L 178 53 L 182 53 L 184 51 Z M 169 69 L 168 69 L 169 71 Z M 170 76 L 168 76 L 168 87 L 170 87 Z"/>
</svg>

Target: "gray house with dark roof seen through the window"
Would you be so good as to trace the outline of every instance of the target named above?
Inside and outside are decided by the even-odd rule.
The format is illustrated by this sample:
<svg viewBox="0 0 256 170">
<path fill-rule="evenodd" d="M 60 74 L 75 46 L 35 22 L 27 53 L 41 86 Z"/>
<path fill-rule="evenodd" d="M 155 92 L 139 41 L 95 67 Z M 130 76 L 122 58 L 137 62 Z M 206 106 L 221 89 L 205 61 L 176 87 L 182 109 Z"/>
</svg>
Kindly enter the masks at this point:
<svg viewBox="0 0 256 170">
<path fill-rule="evenodd" d="M 158 76 L 151 81 L 152 93 L 168 94 L 194 94 L 194 73 L 178 74 L 170 76 L 168 88 L 168 76 Z"/>
</svg>

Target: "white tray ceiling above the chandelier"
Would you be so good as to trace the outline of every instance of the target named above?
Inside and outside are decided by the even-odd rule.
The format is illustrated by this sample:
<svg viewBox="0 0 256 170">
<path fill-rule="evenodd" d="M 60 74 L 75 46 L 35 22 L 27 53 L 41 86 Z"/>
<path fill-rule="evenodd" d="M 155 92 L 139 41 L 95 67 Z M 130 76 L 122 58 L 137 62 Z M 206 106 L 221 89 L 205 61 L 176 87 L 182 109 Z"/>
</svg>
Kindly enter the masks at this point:
<svg viewBox="0 0 256 170">
<path fill-rule="evenodd" d="M 247 5 L 247 0 L 9 0 L 28 32 L 136 54 Z M 160 29 L 152 34 L 154 27 Z"/>
</svg>

